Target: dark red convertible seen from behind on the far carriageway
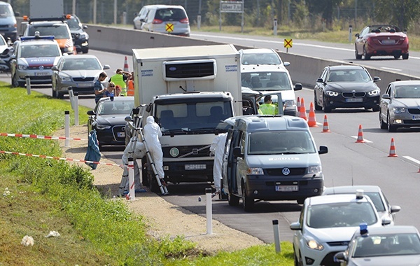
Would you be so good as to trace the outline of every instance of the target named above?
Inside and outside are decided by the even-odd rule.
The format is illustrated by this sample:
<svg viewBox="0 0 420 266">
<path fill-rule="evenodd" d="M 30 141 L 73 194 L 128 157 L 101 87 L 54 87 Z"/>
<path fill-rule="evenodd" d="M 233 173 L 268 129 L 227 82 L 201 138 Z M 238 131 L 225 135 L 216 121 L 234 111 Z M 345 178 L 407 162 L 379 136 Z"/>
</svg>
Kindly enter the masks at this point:
<svg viewBox="0 0 420 266">
<path fill-rule="evenodd" d="M 356 59 L 362 59 L 363 56 L 368 60 L 378 55 L 391 55 L 395 59 L 402 56 L 402 59 L 408 59 L 408 37 L 397 26 L 366 26 L 355 36 Z"/>
</svg>

